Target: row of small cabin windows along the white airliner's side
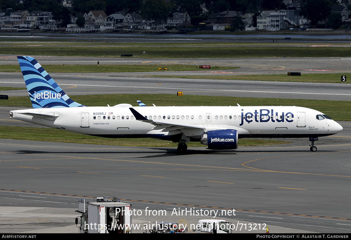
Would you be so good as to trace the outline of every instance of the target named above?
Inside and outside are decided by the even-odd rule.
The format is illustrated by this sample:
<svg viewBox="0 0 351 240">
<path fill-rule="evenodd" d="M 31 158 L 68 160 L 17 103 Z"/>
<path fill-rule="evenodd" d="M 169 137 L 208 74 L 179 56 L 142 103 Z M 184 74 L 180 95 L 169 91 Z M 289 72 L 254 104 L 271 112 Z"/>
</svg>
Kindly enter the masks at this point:
<svg viewBox="0 0 351 240">
<path fill-rule="evenodd" d="M 317 119 L 318 119 L 318 116 L 319 116 L 319 115 L 317 115 Z M 125 116 L 125 117 L 124 117 L 124 116 L 121 116 L 121 117 L 120 117 L 120 116 L 117 116 L 117 120 L 119 120 L 119 119 L 122 119 L 122 120 L 127 119 L 127 120 L 128 120 L 129 118 L 130 118 L 130 119 L 134 119 L 133 116 L 130 116 L 130 117 L 129 117 L 129 116 Z M 145 116 L 145 118 L 147 118 L 147 116 Z M 151 119 L 156 120 L 156 119 L 162 119 L 162 118 L 163 118 L 163 119 L 166 119 L 166 116 L 163 116 L 163 117 L 161 117 L 161 116 L 158 116 L 158 117 L 157 117 L 157 116 L 153 116 L 153 117 L 152 117 L 152 116 L 149 116 L 149 117 L 148 117 L 148 119 L 150 119 L 150 120 L 151 120 Z M 190 116 L 190 117 L 189 117 L 189 116 L 184 116 L 184 115 L 182 115 L 181 117 L 179 117 L 179 115 L 177 115 L 177 116 L 174 116 L 174 115 L 173 115 L 173 116 L 172 116 L 172 119 L 179 119 L 179 118 L 181 118 L 181 119 L 189 119 L 189 118 L 194 119 L 194 116 Z M 199 119 L 201 119 L 201 118 L 202 118 L 202 117 L 201 117 L 201 115 L 200 115 L 200 116 L 199 116 Z M 223 117 L 223 116 L 219 116 L 219 117 L 216 116 L 216 117 L 214 117 L 214 118 L 215 118 L 215 119 L 218 119 L 218 118 L 219 118 L 219 119 L 223 119 L 223 118 L 224 118 L 224 119 L 227 119 L 228 117 L 225 115 L 224 117 Z M 230 116 L 229 116 L 229 119 L 232 119 L 232 118 L 233 118 L 234 120 L 237 119 L 237 118 L 238 118 L 238 119 L 241 119 L 241 116 L 239 115 L 239 116 L 237 117 L 236 115 L 234 115 L 234 116 L 232 117 L 232 116 L 230 115 Z M 250 115 L 247 116 L 247 119 L 251 119 L 251 118 L 254 118 L 254 117 L 251 117 Z M 262 120 L 267 120 L 268 118 L 269 118 L 269 117 L 268 117 L 267 115 L 261 116 L 261 119 L 262 119 Z M 274 118 L 273 115 L 271 115 L 270 118 L 273 119 L 273 118 Z M 280 116 L 278 117 L 278 115 L 276 115 L 276 116 L 275 116 L 275 119 L 278 119 L 278 118 L 279 118 L 279 119 L 283 119 L 283 116 L 280 115 Z M 285 119 L 288 119 L 288 118 L 289 118 L 290 120 L 292 119 L 291 115 L 290 115 L 289 117 L 287 117 L 287 116 L 285 115 L 284 118 L 285 118 Z M 101 116 L 98 116 L 98 117 L 94 116 L 93 119 L 94 119 L 94 120 L 95 120 L 95 119 L 100 120 L 100 119 L 101 119 Z M 105 120 L 105 119 L 106 119 L 106 116 L 102 116 L 102 119 Z M 111 116 L 107 116 L 107 119 L 111 119 Z M 115 117 L 115 116 L 112 116 L 112 119 L 116 119 L 116 117 Z M 171 116 L 168 115 L 168 116 L 167 116 L 167 119 L 171 119 Z M 210 119 L 210 116 L 207 116 L 207 119 Z M 243 119 L 246 119 L 246 117 L 243 116 Z M 259 120 L 260 117 L 257 116 L 256 119 Z M 320 120 L 320 119 L 319 119 L 319 120 Z"/>
</svg>

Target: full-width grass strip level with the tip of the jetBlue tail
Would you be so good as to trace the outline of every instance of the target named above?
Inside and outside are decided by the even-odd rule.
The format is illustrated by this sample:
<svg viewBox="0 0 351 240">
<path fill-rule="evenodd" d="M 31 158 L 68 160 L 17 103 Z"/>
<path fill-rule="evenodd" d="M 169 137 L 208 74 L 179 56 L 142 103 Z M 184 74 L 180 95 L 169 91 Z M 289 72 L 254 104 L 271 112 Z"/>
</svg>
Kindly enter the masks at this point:
<svg viewBox="0 0 351 240">
<path fill-rule="evenodd" d="M 145 55 L 143 55 L 145 51 Z M 2 46 L 2 54 L 44 56 L 120 57 L 133 54 L 138 58 L 264 58 L 264 57 L 349 57 L 349 47 L 75 47 L 75 46 Z"/>
</svg>

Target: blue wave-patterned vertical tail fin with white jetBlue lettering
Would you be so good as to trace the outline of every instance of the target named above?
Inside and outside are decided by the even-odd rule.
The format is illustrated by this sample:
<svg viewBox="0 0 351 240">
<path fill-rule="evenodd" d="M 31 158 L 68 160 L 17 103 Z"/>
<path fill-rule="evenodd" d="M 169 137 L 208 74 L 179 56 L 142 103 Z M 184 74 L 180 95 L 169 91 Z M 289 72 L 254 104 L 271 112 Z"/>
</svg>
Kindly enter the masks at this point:
<svg viewBox="0 0 351 240">
<path fill-rule="evenodd" d="M 84 107 L 69 98 L 33 57 L 17 58 L 33 108 Z"/>
</svg>

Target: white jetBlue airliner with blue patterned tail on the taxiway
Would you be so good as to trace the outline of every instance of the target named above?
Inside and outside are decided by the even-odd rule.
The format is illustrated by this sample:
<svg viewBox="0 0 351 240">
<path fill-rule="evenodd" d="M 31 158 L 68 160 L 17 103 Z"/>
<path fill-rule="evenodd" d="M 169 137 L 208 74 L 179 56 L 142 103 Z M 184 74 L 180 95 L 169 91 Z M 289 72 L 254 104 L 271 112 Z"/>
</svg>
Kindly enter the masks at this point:
<svg viewBox="0 0 351 240">
<path fill-rule="evenodd" d="M 343 130 L 327 115 L 296 106 L 158 107 L 118 104 L 87 107 L 71 100 L 33 58 L 18 62 L 33 108 L 10 111 L 10 117 L 42 126 L 99 137 L 149 137 L 179 142 L 197 141 L 208 149 L 237 149 L 241 137 L 309 137 L 314 141 Z"/>
</svg>

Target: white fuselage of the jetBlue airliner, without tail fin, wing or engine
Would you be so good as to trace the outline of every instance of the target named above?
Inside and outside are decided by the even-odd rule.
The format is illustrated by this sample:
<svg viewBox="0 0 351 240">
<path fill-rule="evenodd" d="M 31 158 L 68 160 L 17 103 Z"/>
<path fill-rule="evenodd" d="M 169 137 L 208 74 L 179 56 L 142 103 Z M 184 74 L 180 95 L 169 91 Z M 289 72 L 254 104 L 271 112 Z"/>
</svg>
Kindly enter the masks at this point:
<svg viewBox="0 0 351 240">
<path fill-rule="evenodd" d="M 133 107 L 147 119 L 174 124 L 203 126 L 189 129 L 176 126 L 157 129 L 135 119 L 128 107 L 57 107 L 11 111 L 12 118 L 70 132 L 102 137 L 152 137 L 178 141 L 186 132 L 192 141 L 204 132 L 234 129 L 238 137 L 316 137 L 340 132 L 332 119 L 318 119 L 323 113 L 296 106 L 168 106 Z M 33 113 L 30 115 L 29 113 Z M 38 117 L 35 115 L 38 114 Z M 47 114 L 48 117 L 43 117 Z M 57 116 L 57 117 L 50 117 Z"/>
</svg>

